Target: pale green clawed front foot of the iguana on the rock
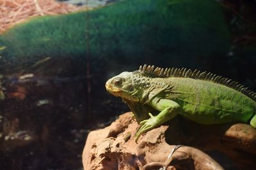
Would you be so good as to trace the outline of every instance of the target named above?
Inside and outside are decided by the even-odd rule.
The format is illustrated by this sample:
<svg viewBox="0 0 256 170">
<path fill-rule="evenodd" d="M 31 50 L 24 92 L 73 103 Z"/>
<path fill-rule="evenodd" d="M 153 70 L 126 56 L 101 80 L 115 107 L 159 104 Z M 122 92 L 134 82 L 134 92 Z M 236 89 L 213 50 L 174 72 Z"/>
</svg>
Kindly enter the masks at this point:
<svg viewBox="0 0 256 170">
<path fill-rule="evenodd" d="M 140 125 L 142 125 L 142 126 L 140 127 L 138 132 L 136 132 L 136 137 L 135 137 L 136 143 L 138 141 L 138 138 L 141 136 L 141 134 L 143 134 L 147 131 L 150 131 L 151 129 L 154 129 L 154 127 L 156 127 L 158 125 L 157 118 L 154 117 L 151 113 L 148 113 L 148 115 L 150 116 L 150 118 L 140 122 Z"/>
</svg>

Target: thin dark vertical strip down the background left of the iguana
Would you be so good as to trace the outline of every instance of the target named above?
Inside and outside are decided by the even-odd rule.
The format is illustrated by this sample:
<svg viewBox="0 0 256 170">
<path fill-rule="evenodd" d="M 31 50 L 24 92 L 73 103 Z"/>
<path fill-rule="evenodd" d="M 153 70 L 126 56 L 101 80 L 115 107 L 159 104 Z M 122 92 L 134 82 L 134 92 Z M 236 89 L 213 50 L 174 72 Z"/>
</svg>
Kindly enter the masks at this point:
<svg viewBox="0 0 256 170">
<path fill-rule="evenodd" d="M 85 0 L 86 9 L 88 9 L 88 0 Z M 92 96 L 91 96 L 91 77 L 90 77 L 90 37 L 89 37 L 89 13 L 85 12 L 85 41 L 86 41 L 86 79 L 87 79 L 87 122 L 92 122 Z"/>
</svg>

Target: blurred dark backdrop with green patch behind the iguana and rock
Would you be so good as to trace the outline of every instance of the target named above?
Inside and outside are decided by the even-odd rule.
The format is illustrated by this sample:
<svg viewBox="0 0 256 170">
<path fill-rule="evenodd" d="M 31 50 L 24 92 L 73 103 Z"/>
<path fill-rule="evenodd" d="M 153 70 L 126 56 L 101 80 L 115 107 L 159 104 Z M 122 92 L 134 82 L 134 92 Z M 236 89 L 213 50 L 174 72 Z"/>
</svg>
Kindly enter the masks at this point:
<svg viewBox="0 0 256 170">
<path fill-rule="evenodd" d="M 0 0 L 0 169 L 83 169 L 88 132 L 129 111 L 105 82 L 142 64 L 256 90 L 255 0 Z"/>
</svg>

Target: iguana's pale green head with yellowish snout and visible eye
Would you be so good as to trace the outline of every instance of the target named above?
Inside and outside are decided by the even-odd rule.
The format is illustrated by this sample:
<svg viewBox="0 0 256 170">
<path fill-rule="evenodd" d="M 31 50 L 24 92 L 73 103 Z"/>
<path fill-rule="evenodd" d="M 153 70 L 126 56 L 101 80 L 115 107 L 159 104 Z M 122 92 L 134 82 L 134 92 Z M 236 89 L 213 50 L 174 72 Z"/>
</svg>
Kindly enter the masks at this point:
<svg viewBox="0 0 256 170">
<path fill-rule="evenodd" d="M 142 92 L 134 87 L 134 83 L 132 82 L 133 76 L 132 72 L 123 72 L 114 76 L 106 82 L 106 89 L 114 96 L 139 102 Z"/>
</svg>

